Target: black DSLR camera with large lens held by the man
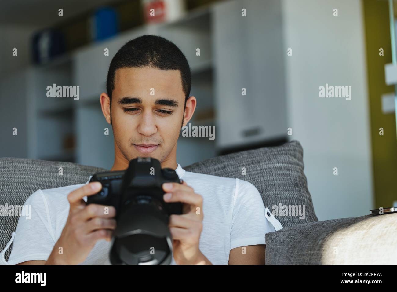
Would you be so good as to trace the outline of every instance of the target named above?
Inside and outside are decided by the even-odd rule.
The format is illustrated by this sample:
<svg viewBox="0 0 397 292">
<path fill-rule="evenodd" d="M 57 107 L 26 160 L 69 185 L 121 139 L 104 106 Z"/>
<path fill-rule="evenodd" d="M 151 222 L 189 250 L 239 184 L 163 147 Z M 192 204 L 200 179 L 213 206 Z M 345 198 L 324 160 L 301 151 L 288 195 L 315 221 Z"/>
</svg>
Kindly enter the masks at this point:
<svg viewBox="0 0 397 292">
<path fill-rule="evenodd" d="M 182 214 L 182 203 L 166 203 L 164 182 L 181 183 L 175 170 L 160 161 L 138 157 L 123 171 L 94 174 L 90 182 L 102 189 L 87 197 L 87 204 L 116 208 L 110 262 L 113 265 L 168 265 L 172 260 L 171 214 Z"/>
</svg>

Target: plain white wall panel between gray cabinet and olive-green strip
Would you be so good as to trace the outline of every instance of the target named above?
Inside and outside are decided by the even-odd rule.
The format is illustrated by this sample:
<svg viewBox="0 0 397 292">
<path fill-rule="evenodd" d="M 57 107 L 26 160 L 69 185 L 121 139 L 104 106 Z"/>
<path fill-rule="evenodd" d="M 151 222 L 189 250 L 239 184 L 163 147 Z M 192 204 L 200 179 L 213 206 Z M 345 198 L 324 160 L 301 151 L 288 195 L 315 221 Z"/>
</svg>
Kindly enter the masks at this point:
<svg viewBox="0 0 397 292">
<path fill-rule="evenodd" d="M 283 23 L 289 138 L 303 146 L 316 215 L 368 214 L 374 204 L 361 1 L 283 0 Z M 352 99 L 319 97 L 326 83 L 352 86 Z"/>
</svg>

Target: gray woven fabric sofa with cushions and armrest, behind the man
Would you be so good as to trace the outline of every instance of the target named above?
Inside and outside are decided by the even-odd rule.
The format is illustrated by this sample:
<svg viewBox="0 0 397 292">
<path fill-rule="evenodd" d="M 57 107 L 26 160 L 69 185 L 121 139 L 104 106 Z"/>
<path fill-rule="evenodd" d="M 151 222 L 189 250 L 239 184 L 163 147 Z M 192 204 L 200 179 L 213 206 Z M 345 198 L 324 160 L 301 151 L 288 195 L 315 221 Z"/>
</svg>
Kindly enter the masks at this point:
<svg viewBox="0 0 397 292">
<path fill-rule="evenodd" d="M 58 174 L 60 167 L 62 175 Z M 303 149 L 294 140 L 277 147 L 214 157 L 184 169 L 247 180 L 256 186 L 270 211 L 273 206 L 287 206 L 291 211 L 301 207 L 302 211 L 304 206 L 304 216 L 291 211 L 275 215 L 283 228 L 264 234 L 266 264 L 397 263 L 397 214 L 318 222 L 303 167 Z M 23 205 L 36 190 L 82 184 L 101 171 L 105 169 L 71 162 L 1 158 L 0 205 Z M 0 216 L 0 251 L 17 221 L 17 216 Z"/>
</svg>

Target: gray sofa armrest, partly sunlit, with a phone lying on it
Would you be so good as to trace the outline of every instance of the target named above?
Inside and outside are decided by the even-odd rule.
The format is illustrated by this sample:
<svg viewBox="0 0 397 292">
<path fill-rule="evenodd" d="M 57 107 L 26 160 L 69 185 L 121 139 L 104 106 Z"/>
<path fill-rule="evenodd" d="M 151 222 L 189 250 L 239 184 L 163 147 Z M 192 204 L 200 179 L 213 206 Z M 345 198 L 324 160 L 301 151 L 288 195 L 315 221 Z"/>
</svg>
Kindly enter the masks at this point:
<svg viewBox="0 0 397 292">
<path fill-rule="evenodd" d="M 266 265 L 396 264 L 397 213 L 288 226 L 266 234 Z"/>
</svg>

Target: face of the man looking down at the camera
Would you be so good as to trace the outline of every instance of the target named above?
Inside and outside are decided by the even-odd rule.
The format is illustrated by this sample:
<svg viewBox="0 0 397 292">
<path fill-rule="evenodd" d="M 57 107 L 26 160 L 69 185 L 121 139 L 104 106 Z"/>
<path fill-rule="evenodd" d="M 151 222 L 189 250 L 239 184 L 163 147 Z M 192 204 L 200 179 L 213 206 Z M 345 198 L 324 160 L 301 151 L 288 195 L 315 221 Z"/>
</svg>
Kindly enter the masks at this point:
<svg viewBox="0 0 397 292">
<path fill-rule="evenodd" d="M 179 70 L 116 70 L 111 116 L 123 156 L 129 161 L 144 156 L 163 162 L 176 151 L 184 103 Z"/>
</svg>

